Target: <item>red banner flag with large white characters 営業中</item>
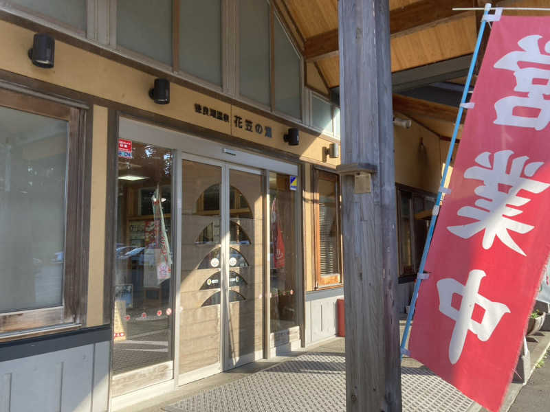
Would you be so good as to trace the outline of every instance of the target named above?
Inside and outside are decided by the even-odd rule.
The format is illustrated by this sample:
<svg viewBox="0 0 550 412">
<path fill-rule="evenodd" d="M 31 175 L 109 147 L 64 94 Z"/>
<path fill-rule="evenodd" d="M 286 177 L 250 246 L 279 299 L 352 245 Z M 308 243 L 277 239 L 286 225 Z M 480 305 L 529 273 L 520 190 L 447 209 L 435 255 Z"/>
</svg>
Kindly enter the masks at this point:
<svg viewBox="0 0 550 412">
<path fill-rule="evenodd" d="M 410 355 L 498 411 L 550 252 L 550 19 L 492 26 L 419 290 Z"/>
</svg>

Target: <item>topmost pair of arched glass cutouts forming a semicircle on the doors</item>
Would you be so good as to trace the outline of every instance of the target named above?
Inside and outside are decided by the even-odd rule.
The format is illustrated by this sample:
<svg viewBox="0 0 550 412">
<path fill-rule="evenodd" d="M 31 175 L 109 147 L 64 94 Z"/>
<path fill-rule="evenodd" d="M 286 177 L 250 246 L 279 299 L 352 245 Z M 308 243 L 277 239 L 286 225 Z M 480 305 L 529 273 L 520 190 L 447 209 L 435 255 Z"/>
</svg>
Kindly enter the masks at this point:
<svg viewBox="0 0 550 412">
<path fill-rule="evenodd" d="M 195 205 L 195 214 L 201 216 L 219 216 L 219 205 L 221 205 L 219 197 L 219 183 L 208 187 L 201 196 L 197 199 Z M 239 189 L 234 186 L 229 188 L 229 207 L 230 217 L 252 219 L 252 210 L 248 205 L 248 201 Z"/>
</svg>

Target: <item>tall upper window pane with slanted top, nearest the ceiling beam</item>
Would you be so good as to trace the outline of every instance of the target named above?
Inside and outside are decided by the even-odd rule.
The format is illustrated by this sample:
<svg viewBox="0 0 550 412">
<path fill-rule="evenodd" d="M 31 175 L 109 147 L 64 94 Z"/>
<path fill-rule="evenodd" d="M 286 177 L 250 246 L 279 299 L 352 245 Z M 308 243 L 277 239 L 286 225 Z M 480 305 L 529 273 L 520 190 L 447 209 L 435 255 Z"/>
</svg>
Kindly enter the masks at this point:
<svg viewBox="0 0 550 412">
<path fill-rule="evenodd" d="M 300 58 L 275 19 L 275 110 L 300 118 Z"/>
</svg>

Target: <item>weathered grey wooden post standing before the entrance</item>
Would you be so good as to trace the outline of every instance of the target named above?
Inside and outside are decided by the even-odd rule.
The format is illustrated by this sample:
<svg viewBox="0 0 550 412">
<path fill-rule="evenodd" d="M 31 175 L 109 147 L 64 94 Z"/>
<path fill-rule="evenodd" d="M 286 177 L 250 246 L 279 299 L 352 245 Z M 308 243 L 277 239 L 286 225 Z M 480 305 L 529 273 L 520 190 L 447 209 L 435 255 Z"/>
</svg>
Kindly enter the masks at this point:
<svg viewBox="0 0 550 412">
<path fill-rule="evenodd" d="M 347 411 L 395 412 L 401 368 L 389 6 L 340 0 L 338 7 Z"/>
</svg>

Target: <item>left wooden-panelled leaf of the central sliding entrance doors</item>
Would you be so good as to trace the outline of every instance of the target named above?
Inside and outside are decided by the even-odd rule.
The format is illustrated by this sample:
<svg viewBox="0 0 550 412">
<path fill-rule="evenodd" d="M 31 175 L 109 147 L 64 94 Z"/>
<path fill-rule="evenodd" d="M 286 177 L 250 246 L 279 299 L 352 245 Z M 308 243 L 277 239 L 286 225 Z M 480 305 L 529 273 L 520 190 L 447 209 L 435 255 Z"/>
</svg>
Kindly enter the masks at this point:
<svg viewBox="0 0 550 412">
<path fill-rule="evenodd" d="M 221 370 L 221 172 L 218 165 L 183 161 L 180 376 Z"/>
</svg>

